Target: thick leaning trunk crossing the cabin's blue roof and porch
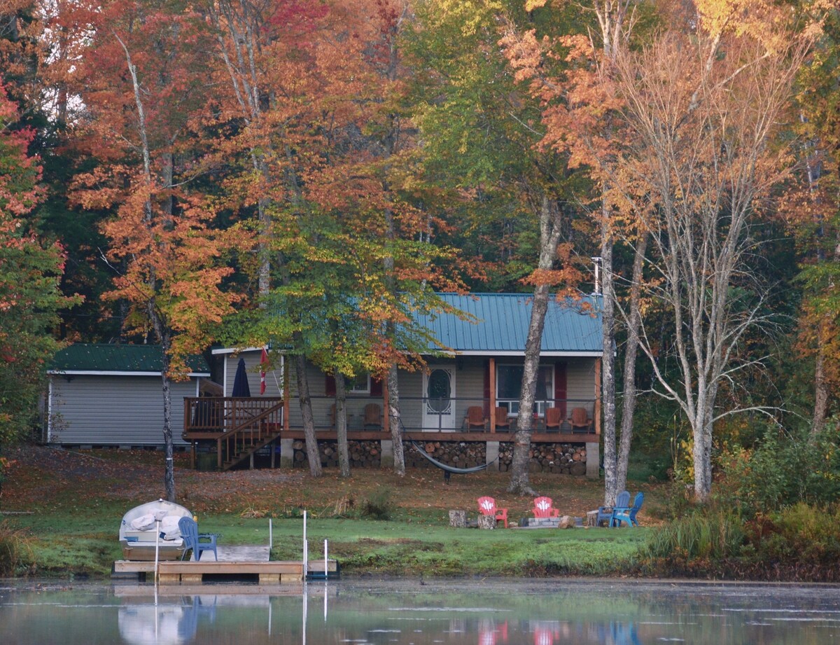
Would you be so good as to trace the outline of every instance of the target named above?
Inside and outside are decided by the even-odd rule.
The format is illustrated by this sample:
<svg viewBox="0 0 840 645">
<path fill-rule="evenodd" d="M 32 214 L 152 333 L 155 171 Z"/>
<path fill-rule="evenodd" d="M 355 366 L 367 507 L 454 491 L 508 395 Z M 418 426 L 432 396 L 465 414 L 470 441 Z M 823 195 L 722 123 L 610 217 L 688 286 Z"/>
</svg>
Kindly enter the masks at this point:
<svg viewBox="0 0 840 645">
<path fill-rule="evenodd" d="M 560 239 L 559 212 L 549 198 L 542 197 L 539 207 L 539 260 L 538 270 L 550 270 L 557 255 Z M 511 483 L 507 490 L 518 495 L 536 495 L 528 479 L 528 462 L 533 433 L 533 401 L 537 391 L 539 348 L 543 342 L 545 312 L 549 309 L 549 285 L 539 284 L 533 291 L 531 322 L 525 340 L 525 364 L 522 370 L 522 389 L 519 394 L 519 416 L 514 436 L 511 462 Z"/>
</svg>

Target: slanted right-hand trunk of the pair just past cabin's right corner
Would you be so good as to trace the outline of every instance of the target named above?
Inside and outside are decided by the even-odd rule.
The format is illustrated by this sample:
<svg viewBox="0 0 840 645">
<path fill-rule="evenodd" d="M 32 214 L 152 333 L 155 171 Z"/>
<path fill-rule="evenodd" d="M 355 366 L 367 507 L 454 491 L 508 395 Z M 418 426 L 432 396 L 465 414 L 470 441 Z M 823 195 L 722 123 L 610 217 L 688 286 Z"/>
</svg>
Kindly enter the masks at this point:
<svg viewBox="0 0 840 645">
<path fill-rule="evenodd" d="M 642 233 L 636 244 L 633 258 L 633 284 L 630 286 L 630 311 L 627 313 L 627 346 L 624 349 L 624 393 L 622 398 L 622 435 L 616 467 L 616 495 L 627 488 L 627 464 L 630 461 L 630 443 L 633 440 L 633 415 L 636 412 L 636 355 L 638 354 L 638 328 L 642 322 L 639 307 L 642 294 L 644 254 L 648 250 L 648 234 Z"/>
</svg>

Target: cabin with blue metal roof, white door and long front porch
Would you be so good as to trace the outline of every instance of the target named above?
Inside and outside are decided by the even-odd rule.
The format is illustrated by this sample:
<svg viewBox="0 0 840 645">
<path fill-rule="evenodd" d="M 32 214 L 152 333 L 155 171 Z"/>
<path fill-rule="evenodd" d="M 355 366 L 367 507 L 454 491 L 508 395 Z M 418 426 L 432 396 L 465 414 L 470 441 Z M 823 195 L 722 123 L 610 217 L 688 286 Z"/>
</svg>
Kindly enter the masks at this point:
<svg viewBox="0 0 840 645">
<path fill-rule="evenodd" d="M 407 466 L 426 464 L 412 455 L 414 442 L 444 463 L 487 463 L 505 470 L 522 415 L 519 395 L 533 297 L 512 293 L 442 297 L 469 314 L 469 319 L 449 313 L 417 317 L 438 340 L 438 347 L 429 348 L 424 356 L 425 369 L 398 375 Z M 599 474 L 599 297 L 549 302 L 536 401 L 529 411 L 535 427 L 534 469 Z M 213 349 L 213 356 L 221 361 L 223 396 L 185 400 L 184 438 L 192 443 L 193 454 L 196 449 L 215 452 L 219 468 L 248 457 L 253 464 L 253 454 L 260 449 L 265 453 L 266 448 L 272 466 L 277 456 L 281 467 L 307 463 L 296 370 L 281 360 L 261 373 L 262 353 L 262 348 Z M 240 387 L 245 380 L 249 396 L 234 396 L 238 371 Z M 335 380 L 312 364 L 307 367 L 307 380 L 322 463 L 333 465 L 337 459 Z M 354 465 L 392 464 L 393 444 L 384 417 L 388 401 L 386 384 L 372 375 L 357 375 L 348 383 L 345 412 Z M 237 423 L 247 434 L 240 441 L 235 438 Z M 223 441 L 232 446 L 231 454 Z M 248 449 L 233 448 L 238 443 L 247 444 Z"/>
</svg>

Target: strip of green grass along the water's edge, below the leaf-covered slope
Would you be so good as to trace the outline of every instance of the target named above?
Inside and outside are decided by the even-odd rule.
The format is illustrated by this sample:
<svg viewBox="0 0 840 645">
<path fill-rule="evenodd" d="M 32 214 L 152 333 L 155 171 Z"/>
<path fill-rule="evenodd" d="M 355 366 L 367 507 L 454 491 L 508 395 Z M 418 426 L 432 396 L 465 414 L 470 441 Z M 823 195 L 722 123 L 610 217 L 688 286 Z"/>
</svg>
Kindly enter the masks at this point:
<svg viewBox="0 0 840 645">
<path fill-rule="evenodd" d="M 21 571 L 59 577 L 109 574 L 121 558 L 113 514 L 14 517 L 27 549 Z M 433 518 L 429 518 L 434 521 Z M 106 526 L 102 526 L 102 524 Z M 93 530 L 94 527 L 98 531 Z M 272 559 L 302 558 L 301 519 L 272 521 Z M 222 544 L 267 544 L 268 520 L 234 515 L 206 517 L 202 532 L 221 533 Z M 648 529 L 454 529 L 408 521 L 316 519 L 307 522 L 310 558 L 337 558 L 344 574 L 440 576 L 545 576 L 619 574 L 633 562 Z"/>
</svg>

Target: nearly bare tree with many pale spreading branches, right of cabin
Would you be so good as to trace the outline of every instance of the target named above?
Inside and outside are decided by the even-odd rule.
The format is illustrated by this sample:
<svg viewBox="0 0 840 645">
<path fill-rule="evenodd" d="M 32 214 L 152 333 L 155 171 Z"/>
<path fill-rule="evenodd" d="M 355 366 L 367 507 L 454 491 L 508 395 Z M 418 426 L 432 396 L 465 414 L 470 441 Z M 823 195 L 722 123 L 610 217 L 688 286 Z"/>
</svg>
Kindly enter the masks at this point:
<svg viewBox="0 0 840 645">
<path fill-rule="evenodd" d="M 735 412 L 718 407 L 718 393 L 758 360 L 738 355 L 762 315 L 753 228 L 790 170 L 777 135 L 804 52 L 793 34 L 736 34 L 716 29 L 715 18 L 701 15 L 696 34 L 666 33 L 617 58 L 633 143 L 615 181 L 646 195 L 638 211 L 656 275 L 648 296 L 673 325 L 671 345 L 656 348 L 643 324 L 641 348 L 659 393 L 690 423 L 700 500 L 711 490 L 714 424 Z M 679 366 L 676 380 L 656 360 L 662 351 Z"/>
</svg>

